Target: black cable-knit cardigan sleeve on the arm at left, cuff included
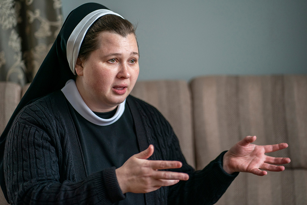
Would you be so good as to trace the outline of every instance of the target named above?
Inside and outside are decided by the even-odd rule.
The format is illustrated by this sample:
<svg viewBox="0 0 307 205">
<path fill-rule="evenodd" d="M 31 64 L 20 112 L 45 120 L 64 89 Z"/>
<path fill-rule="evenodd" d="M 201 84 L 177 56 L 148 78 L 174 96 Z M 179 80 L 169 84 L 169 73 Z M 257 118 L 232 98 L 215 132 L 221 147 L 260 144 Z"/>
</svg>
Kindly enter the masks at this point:
<svg viewBox="0 0 307 205">
<path fill-rule="evenodd" d="M 49 114 L 32 106 L 10 129 L 4 154 L 10 203 L 113 204 L 124 199 L 115 168 L 76 177 L 69 140 L 61 136 L 64 129 Z"/>
</svg>

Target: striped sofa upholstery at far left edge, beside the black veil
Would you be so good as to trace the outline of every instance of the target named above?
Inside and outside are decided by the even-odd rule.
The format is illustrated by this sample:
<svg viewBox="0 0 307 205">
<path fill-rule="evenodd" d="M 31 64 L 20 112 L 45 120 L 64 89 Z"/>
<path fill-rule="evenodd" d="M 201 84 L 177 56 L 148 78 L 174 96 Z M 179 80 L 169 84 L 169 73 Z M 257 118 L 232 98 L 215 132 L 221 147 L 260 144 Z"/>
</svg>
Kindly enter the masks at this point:
<svg viewBox="0 0 307 205">
<path fill-rule="evenodd" d="M 10 120 L 21 97 L 21 86 L 11 82 L 0 82 L 0 133 Z M 0 204 L 6 205 L 6 199 L 0 189 Z"/>
</svg>

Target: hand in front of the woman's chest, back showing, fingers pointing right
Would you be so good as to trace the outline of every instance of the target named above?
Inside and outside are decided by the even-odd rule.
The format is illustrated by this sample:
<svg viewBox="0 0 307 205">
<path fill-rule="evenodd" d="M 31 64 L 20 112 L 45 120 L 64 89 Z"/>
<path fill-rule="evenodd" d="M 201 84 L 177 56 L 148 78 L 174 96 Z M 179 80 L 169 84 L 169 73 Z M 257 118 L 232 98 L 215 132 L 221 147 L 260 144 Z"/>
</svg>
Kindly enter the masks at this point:
<svg viewBox="0 0 307 205">
<path fill-rule="evenodd" d="M 189 175 L 181 172 L 160 171 L 160 169 L 181 168 L 179 161 L 147 160 L 153 154 L 153 145 L 131 156 L 115 170 L 122 193 L 148 193 L 162 186 L 171 186 L 179 180 L 188 180 Z"/>
</svg>

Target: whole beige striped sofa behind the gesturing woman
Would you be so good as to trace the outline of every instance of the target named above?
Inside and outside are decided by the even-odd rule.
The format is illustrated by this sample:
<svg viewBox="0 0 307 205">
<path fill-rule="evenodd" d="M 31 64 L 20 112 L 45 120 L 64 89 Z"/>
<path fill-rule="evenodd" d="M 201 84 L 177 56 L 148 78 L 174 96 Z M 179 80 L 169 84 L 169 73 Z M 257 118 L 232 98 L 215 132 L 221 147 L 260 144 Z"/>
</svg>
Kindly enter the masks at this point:
<svg viewBox="0 0 307 205">
<path fill-rule="evenodd" d="M 306 75 L 138 81 L 131 94 L 169 120 L 196 169 L 247 135 L 256 135 L 256 144 L 290 145 L 271 154 L 291 158 L 286 171 L 263 177 L 240 173 L 216 204 L 307 204 Z M 0 132 L 21 95 L 20 86 L 0 82 Z M 0 204 L 6 204 L 2 198 Z"/>
</svg>

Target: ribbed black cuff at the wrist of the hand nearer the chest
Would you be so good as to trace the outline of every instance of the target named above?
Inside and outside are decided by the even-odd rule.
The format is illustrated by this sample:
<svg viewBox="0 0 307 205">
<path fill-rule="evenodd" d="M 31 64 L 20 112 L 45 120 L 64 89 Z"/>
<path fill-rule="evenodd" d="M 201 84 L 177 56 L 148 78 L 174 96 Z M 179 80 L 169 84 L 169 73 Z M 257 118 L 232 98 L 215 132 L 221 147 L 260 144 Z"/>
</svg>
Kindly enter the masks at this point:
<svg viewBox="0 0 307 205">
<path fill-rule="evenodd" d="M 126 198 L 126 195 L 122 193 L 122 190 L 119 187 L 115 173 L 115 167 L 104 169 L 103 179 L 107 188 L 107 194 L 109 195 L 112 203 Z"/>
</svg>

